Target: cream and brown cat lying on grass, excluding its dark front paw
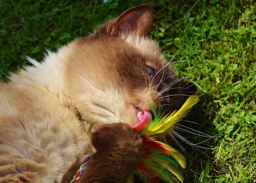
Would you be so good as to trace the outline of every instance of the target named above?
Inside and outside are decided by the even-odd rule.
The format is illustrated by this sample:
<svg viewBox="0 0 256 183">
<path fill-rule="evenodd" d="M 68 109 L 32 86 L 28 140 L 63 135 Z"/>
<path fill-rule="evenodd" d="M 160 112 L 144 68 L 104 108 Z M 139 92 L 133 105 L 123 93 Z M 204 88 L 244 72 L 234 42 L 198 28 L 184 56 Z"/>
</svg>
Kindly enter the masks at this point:
<svg viewBox="0 0 256 183">
<path fill-rule="evenodd" d="M 72 178 L 96 152 L 91 134 L 103 124 L 134 126 L 149 103 L 182 105 L 195 87 L 146 36 L 152 21 L 151 6 L 128 9 L 0 83 L 0 182 Z"/>
</svg>

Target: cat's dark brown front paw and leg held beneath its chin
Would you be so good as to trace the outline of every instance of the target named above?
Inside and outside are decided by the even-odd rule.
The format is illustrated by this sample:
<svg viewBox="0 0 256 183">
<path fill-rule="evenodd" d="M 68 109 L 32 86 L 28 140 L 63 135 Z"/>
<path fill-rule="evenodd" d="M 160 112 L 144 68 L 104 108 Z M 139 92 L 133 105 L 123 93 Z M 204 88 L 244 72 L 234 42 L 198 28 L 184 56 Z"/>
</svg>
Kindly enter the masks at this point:
<svg viewBox="0 0 256 183">
<path fill-rule="evenodd" d="M 79 183 L 126 182 L 135 171 L 143 151 L 142 140 L 129 125 L 103 125 L 92 135 L 97 152 L 87 162 Z"/>
</svg>

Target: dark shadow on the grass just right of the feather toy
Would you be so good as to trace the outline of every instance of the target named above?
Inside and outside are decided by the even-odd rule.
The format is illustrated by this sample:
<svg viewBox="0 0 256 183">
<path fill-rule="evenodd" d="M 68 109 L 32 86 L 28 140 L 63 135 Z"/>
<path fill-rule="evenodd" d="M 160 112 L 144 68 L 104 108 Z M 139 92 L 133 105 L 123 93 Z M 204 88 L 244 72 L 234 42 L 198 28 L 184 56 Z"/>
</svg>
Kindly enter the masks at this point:
<svg viewBox="0 0 256 183">
<path fill-rule="evenodd" d="M 202 95 L 199 103 L 196 104 L 183 121 L 179 122 L 179 124 L 186 126 L 183 130 L 179 130 L 179 134 L 191 143 L 185 143 L 176 138 L 185 149 L 183 154 L 187 159 L 184 182 L 202 182 L 210 174 L 214 174 L 214 172 L 209 172 L 209 166 L 214 164 L 215 154 L 213 149 L 218 143 L 216 138 L 221 134 L 218 134 L 216 126 L 212 123 L 214 120 L 212 116 L 214 115 L 211 113 L 214 112 L 207 112 L 204 109 L 204 107 L 207 108 L 205 101 L 210 101 L 210 99 L 211 96 L 209 94 Z M 173 146 L 182 152 L 177 143 Z"/>
</svg>

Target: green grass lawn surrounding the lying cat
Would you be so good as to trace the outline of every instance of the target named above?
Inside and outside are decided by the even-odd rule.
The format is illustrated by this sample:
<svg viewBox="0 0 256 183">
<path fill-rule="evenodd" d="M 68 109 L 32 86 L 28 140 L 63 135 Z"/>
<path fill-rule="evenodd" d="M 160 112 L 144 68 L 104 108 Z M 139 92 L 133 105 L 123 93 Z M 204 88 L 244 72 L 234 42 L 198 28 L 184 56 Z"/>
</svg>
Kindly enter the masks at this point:
<svg viewBox="0 0 256 183">
<path fill-rule="evenodd" d="M 187 119 L 199 124 L 183 121 L 190 133 L 182 135 L 209 148 L 177 139 L 188 159 L 185 182 L 256 181 L 256 3 L 174 2 L 152 2 L 156 15 L 150 35 L 168 60 L 177 54 L 176 72 L 198 87 L 200 102 Z M 86 36 L 99 23 L 139 3 L 2 0 L 0 78 L 7 80 L 9 71 L 29 65 L 26 55 L 40 61 L 46 48 L 56 50 Z M 216 137 L 191 134 L 193 129 Z"/>
</svg>

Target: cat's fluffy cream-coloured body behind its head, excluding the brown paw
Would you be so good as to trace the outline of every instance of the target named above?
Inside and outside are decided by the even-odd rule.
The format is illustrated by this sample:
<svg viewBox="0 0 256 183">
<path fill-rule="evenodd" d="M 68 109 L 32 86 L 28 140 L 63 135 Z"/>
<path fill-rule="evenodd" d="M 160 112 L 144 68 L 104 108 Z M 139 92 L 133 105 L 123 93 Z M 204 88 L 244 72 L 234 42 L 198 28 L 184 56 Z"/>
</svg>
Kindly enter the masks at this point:
<svg viewBox="0 0 256 183">
<path fill-rule="evenodd" d="M 60 182 L 93 153 L 89 127 L 63 92 L 67 46 L 0 84 L 0 182 Z M 12 177 L 12 178 L 11 178 Z"/>
</svg>

